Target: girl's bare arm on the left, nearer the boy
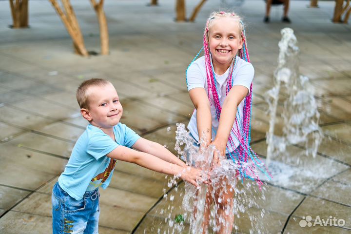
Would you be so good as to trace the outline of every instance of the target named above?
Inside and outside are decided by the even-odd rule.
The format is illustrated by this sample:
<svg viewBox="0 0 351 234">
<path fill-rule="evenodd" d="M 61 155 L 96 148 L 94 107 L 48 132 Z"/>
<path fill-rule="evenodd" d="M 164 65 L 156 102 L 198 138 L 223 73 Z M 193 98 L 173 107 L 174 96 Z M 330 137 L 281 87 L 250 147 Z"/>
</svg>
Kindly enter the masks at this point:
<svg viewBox="0 0 351 234">
<path fill-rule="evenodd" d="M 197 133 L 200 139 L 200 147 L 207 147 L 212 139 L 212 117 L 210 101 L 204 88 L 194 88 L 189 91 L 190 99 L 196 109 Z M 203 137 L 205 142 L 201 141 Z"/>
</svg>

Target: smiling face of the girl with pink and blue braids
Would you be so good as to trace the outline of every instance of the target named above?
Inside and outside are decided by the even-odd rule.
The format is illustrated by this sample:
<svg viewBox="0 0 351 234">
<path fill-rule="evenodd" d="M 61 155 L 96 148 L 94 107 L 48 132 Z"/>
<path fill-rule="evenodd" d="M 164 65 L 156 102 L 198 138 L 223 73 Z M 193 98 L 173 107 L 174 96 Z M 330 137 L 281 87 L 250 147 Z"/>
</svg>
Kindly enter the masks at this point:
<svg viewBox="0 0 351 234">
<path fill-rule="evenodd" d="M 230 17 L 220 17 L 209 25 L 209 47 L 214 67 L 228 65 L 242 48 L 239 22 Z"/>
</svg>

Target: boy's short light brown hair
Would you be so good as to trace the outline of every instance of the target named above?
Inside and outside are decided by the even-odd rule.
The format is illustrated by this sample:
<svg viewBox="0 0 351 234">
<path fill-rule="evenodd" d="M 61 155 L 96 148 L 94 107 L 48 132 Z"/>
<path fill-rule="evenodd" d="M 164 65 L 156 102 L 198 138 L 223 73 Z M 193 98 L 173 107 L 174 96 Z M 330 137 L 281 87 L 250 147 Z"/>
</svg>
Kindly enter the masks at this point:
<svg viewBox="0 0 351 234">
<path fill-rule="evenodd" d="M 76 98 L 77 98 L 79 107 L 84 108 L 84 109 L 88 108 L 89 99 L 88 99 L 88 95 L 87 95 L 87 90 L 89 89 L 89 87 L 103 86 L 106 84 L 110 84 L 110 81 L 108 81 L 106 79 L 101 79 L 101 78 L 92 78 L 92 79 L 88 79 L 88 80 L 85 80 L 84 82 L 82 82 L 79 85 L 79 87 L 77 89 L 77 93 L 76 93 Z"/>
</svg>

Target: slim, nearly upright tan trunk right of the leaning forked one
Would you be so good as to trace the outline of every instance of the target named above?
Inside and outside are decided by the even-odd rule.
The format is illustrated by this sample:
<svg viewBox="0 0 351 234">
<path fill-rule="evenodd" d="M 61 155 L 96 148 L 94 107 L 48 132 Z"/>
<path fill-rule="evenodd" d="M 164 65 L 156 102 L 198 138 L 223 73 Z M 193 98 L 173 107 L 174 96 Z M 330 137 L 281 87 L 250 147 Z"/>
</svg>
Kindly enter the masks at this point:
<svg viewBox="0 0 351 234">
<path fill-rule="evenodd" d="M 95 0 L 90 0 L 93 4 L 94 10 L 98 16 L 98 22 L 100 26 L 100 40 L 101 40 L 101 55 L 109 54 L 109 34 L 106 15 L 103 10 L 103 1 L 100 0 L 98 3 Z"/>
</svg>

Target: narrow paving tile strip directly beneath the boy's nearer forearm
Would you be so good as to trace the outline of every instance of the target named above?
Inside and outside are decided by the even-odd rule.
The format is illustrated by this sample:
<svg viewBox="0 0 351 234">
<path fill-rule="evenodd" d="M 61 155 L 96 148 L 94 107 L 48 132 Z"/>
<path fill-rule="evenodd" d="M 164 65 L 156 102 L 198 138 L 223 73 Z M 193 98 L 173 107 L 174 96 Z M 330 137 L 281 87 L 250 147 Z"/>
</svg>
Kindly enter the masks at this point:
<svg viewBox="0 0 351 234">
<path fill-rule="evenodd" d="M 121 171 L 121 172 L 126 172 L 126 173 L 131 173 L 137 176 L 143 176 L 146 178 L 150 179 L 156 179 L 158 181 L 164 181 L 165 180 L 165 175 L 160 174 L 154 171 L 151 171 L 149 169 L 140 167 L 137 164 L 130 163 L 130 162 L 124 162 L 124 161 L 118 161 L 115 167 L 115 171 Z"/>
</svg>

